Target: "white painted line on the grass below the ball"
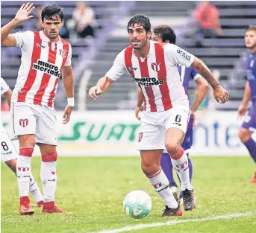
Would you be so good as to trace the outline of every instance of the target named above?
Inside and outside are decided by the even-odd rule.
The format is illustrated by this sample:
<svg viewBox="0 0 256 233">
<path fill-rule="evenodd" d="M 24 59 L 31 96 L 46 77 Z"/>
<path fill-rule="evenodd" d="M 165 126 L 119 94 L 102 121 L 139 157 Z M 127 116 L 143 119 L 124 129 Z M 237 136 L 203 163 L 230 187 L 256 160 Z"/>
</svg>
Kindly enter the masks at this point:
<svg viewBox="0 0 256 233">
<path fill-rule="evenodd" d="M 121 229 L 106 230 L 106 231 L 94 232 L 94 233 L 119 233 L 119 232 L 129 232 L 132 230 L 147 229 L 147 228 L 159 227 L 159 226 L 170 226 L 170 225 L 176 225 L 179 223 L 199 223 L 199 222 L 216 221 L 216 220 L 230 220 L 237 217 L 248 217 L 253 214 L 256 214 L 256 211 L 240 213 L 240 214 L 220 215 L 215 217 L 213 216 L 213 217 L 194 218 L 194 219 L 192 218 L 188 220 L 171 220 L 166 223 L 149 223 L 149 224 L 140 224 L 135 226 L 125 226 Z"/>
</svg>

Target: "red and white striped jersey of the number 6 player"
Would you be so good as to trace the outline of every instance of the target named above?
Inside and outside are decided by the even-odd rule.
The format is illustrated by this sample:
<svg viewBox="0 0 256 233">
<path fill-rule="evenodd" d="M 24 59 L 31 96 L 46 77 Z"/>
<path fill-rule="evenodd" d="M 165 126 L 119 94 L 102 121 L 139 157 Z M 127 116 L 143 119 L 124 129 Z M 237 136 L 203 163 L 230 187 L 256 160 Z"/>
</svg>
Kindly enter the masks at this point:
<svg viewBox="0 0 256 233">
<path fill-rule="evenodd" d="M 127 70 L 143 91 L 146 112 L 163 112 L 175 105 L 189 106 L 177 65 L 190 67 L 193 60 L 193 54 L 176 45 L 151 41 L 148 57 L 137 57 L 128 46 L 105 75 L 116 81 Z"/>
</svg>

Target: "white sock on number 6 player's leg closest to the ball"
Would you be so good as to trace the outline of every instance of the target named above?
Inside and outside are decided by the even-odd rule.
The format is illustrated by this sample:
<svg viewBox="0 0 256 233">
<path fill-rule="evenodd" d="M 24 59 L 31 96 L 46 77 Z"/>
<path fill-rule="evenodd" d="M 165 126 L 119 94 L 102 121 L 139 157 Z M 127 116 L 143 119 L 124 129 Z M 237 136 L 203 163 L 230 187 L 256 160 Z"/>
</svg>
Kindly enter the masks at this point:
<svg viewBox="0 0 256 233">
<path fill-rule="evenodd" d="M 162 197 L 169 208 L 178 208 L 178 202 L 169 188 L 169 180 L 160 168 L 153 176 L 148 176 L 149 182 L 153 185 L 154 191 Z"/>
</svg>

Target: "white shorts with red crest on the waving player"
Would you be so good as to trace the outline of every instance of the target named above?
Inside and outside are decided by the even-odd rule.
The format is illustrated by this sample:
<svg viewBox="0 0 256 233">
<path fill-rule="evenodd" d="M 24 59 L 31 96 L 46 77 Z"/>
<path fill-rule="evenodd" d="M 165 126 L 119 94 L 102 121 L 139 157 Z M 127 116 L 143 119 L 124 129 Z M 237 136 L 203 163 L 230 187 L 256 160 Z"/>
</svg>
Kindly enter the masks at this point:
<svg viewBox="0 0 256 233">
<path fill-rule="evenodd" d="M 56 112 L 49 106 L 32 103 L 11 103 L 11 138 L 36 135 L 36 143 L 57 145 Z"/>
</svg>

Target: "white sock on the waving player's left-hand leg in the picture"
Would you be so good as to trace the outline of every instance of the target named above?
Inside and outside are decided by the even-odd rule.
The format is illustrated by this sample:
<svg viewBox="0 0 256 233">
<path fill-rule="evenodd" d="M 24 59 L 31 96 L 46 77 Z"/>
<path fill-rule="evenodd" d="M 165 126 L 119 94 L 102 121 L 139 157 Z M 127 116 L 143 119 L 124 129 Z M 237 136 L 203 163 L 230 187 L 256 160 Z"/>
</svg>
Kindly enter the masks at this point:
<svg viewBox="0 0 256 233">
<path fill-rule="evenodd" d="M 29 182 L 31 178 L 31 157 L 18 156 L 16 173 L 19 187 L 19 197 L 28 197 Z"/>
</svg>

